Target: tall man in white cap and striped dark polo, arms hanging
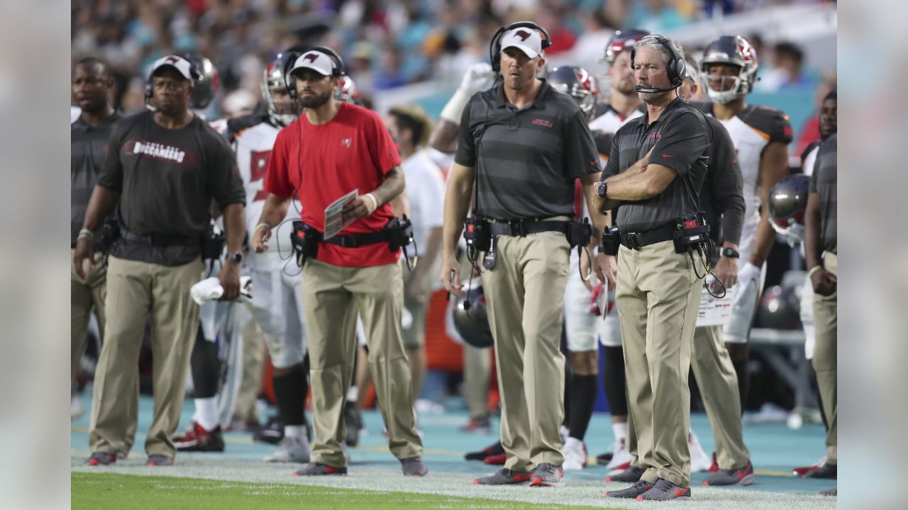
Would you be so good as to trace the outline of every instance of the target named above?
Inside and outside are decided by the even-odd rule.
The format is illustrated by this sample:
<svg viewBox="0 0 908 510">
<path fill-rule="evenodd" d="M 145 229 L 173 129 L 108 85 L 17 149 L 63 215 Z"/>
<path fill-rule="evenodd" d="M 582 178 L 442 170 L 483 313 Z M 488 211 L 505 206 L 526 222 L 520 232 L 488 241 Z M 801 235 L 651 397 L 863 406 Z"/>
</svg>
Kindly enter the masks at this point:
<svg viewBox="0 0 908 510">
<path fill-rule="evenodd" d="M 515 25 L 501 36 L 500 51 L 493 50 L 503 80 L 473 95 L 461 117 L 445 198 L 440 280 L 449 292 L 463 294 L 456 248 L 475 183 L 476 216 L 492 222 L 497 238 L 497 260 L 482 271 L 482 286 L 495 338 L 507 460 L 498 473 L 474 483 L 562 485 L 558 427 L 565 359 L 558 347 L 570 246 L 563 230 L 550 225 L 573 217 L 577 178 L 592 204 L 599 163 L 577 103 L 537 78 L 545 64 L 541 28 Z M 593 219 L 601 231 L 601 215 Z"/>
</svg>

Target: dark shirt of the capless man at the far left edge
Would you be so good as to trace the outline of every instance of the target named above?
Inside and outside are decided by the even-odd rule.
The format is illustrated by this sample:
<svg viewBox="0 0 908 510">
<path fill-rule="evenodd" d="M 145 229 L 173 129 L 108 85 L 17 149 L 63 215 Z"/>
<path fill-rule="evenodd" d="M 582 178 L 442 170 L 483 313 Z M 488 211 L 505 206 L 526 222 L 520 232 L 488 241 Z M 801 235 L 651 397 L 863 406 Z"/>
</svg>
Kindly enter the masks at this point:
<svg viewBox="0 0 908 510">
<path fill-rule="evenodd" d="M 114 113 L 103 123 L 96 126 L 82 122 L 79 117 L 70 126 L 70 161 L 72 162 L 70 179 L 70 242 L 75 246 L 75 238 L 82 230 L 85 221 L 85 210 L 92 198 L 94 183 L 104 166 L 107 156 L 107 142 L 114 132 L 116 123 L 123 119 L 120 113 Z"/>
</svg>

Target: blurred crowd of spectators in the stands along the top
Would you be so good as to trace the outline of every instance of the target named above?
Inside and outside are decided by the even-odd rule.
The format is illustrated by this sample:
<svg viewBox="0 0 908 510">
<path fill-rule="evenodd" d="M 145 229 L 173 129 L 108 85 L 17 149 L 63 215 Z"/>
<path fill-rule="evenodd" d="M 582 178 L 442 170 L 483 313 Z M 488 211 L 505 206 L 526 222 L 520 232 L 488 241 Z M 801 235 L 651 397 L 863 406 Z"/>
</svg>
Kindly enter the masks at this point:
<svg viewBox="0 0 908 510">
<path fill-rule="evenodd" d="M 143 108 L 144 77 L 166 54 L 197 51 L 220 73 L 210 116 L 251 110 L 261 99 L 264 65 L 294 46 L 340 50 L 350 76 L 369 99 L 428 80 L 455 85 L 470 64 L 488 58 L 498 26 L 532 20 L 548 28 L 549 58 L 601 54 L 616 29 L 672 33 L 704 18 L 783 4 L 834 0 L 74 0 L 72 58 L 94 55 L 116 76 L 115 105 Z M 766 92 L 815 88 L 822 76 L 803 69 L 792 43 L 762 47 Z"/>
</svg>

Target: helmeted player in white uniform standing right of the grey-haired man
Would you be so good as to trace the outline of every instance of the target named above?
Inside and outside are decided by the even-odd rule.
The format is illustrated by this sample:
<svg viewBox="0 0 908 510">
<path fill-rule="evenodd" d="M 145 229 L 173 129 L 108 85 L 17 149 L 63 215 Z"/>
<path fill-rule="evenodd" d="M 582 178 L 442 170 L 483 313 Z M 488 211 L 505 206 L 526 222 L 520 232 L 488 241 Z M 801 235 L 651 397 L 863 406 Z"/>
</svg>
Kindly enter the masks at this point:
<svg viewBox="0 0 908 510">
<path fill-rule="evenodd" d="M 706 45 L 701 64 L 703 90 L 711 103 L 698 104 L 721 122 L 735 143 L 744 179 L 745 221 L 738 258 L 735 303 L 723 335 L 738 377 L 742 410 L 747 402 L 747 338 L 765 279 L 765 260 L 775 240 L 767 208 L 769 189 L 788 175 L 787 145 L 792 126 L 785 113 L 749 105 L 756 83 L 757 55 L 744 37 L 723 35 Z"/>
</svg>

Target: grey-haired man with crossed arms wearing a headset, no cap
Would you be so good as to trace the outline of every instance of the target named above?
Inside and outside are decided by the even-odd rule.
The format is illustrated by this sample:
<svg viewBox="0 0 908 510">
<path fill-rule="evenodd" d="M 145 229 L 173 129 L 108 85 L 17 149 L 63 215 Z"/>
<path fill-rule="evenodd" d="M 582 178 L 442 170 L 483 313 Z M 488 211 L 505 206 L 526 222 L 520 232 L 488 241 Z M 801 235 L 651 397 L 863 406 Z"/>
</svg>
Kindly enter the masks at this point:
<svg viewBox="0 0 908 510">
<path fill-rule="evenodd" d="M 615 136 L 600 211 L 618 207 L 615 297 L 627 400 L 646 472 L 607 495 L 672 500 L 691 494 L 687 373 L 701 285 L 672 239 L 676 218 L 697 210 L 694 194 L 706 175 L 712 136 L 706 117 L 676 95 L 684 79 L 680 45 L 649 35 L 634 45 L 631 60 L 646 114 Z"/>
</svg>

